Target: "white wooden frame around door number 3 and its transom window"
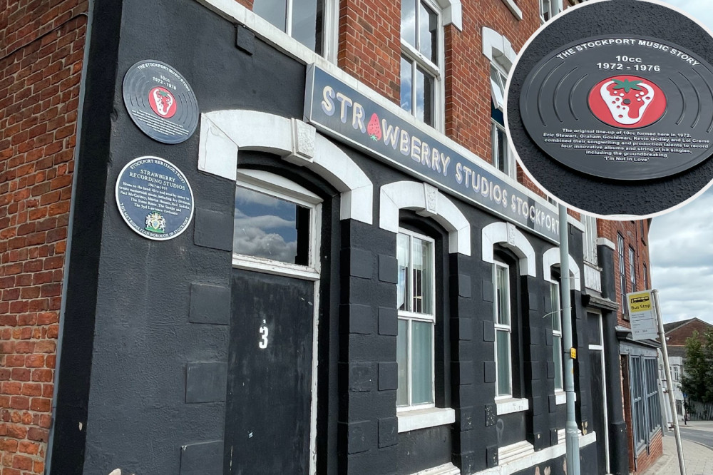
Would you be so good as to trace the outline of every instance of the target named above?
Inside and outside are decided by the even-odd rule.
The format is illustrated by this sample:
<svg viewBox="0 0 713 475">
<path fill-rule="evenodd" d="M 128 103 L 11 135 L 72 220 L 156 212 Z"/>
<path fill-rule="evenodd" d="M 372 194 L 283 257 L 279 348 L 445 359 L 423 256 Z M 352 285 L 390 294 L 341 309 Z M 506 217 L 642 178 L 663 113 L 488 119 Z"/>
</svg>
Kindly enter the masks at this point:
<svg viewBox="0 0 713 475">
<path fill-rule="evenodd" d="M 322 198 L 315 195 L 288 178 L 275 173 L 254 169 L 238 169 L 236 186 L 265 193 L 282 200 L 288 200 L 310 209 L 309 216 L 309 264 L 296 265 L 287 262 L 232 253 L 234 269 L 250 270 L 265 274 L 294 277 L 312 282 L 312 381 L 310 384 L 309 404 L 309 474 L 317 474 L 317 363 L 319 360 L 319 279 L 321 265 L 319 261 L 322 245 Z"/>
</svg>

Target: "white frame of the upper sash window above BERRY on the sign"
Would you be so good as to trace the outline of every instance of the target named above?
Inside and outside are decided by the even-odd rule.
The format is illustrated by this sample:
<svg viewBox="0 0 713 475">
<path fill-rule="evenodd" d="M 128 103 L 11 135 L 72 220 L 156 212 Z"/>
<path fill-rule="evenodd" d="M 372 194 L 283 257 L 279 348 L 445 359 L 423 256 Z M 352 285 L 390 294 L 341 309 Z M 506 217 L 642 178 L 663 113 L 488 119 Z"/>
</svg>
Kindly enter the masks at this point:
<svg viewBox="0 0 713 475">
<path fill-rule="evenodd" d="M 327 1 L 327 0 L 325 0 Z M 410 113 L 412 116 L 416 117 L 416 68 L 421 66 L 426 73 L 434 78 L 434 111 L 433 118 L 434 123 L 431 127 L 435 128 L 437 131 L 443 131 L 444 125 L 446 123 L 445 119 L 445 87 L 443 86 L 444 76 L 445 76 L 445 39 L 443 38 L 445 30 L 443 29 L 443 9 L 438 4 L 431 0 L 416 0 L 416 35 L 419 33 L 419 4 L 423 2 L 429 9 L 434 11 L 436 14 L 436 30 L 438 31 L 438 41 L 436 41 L 436 58 L 438 59 L 438 64 L 434 64 L 429 58 L 426 58 L 421 51 L 418 49 L 418 45 L 411 45 L 404 40 L 403 36 L 399 34 L 401 38 L 401 56 L 406 56 L 406 58 L 411 61 L 411 111 L 404 111 Z M 419 39 L 417 37 L 416 42 Z M 400 66 L 399 66 L 400 70 Z"/>
</svg>

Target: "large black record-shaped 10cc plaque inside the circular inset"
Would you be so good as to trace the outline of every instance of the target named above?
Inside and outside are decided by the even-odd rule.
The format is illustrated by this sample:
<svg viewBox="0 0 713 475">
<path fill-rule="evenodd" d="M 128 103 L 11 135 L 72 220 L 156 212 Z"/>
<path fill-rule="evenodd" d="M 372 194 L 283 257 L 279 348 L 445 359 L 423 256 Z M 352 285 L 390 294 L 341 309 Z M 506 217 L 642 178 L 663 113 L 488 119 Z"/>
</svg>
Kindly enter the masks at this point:
<svg viewBox="0 0 713 475">
<path fill-rule="evenodd" d="M 713 67 L 638 35 L 580 39 L 525 78 L 520 116 L 550 158 L 589 175 L 650 180 L 712 154 Z"/>
</svg>

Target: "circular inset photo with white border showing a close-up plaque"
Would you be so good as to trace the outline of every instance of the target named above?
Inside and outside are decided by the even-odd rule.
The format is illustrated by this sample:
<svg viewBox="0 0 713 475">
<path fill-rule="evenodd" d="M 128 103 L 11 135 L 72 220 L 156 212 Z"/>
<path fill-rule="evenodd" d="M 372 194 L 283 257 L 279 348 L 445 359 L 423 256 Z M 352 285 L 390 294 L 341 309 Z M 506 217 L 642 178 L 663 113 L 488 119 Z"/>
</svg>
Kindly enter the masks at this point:
<svg viewBox="0 0 713 475">
<path fill-rule="evenodd" d="M 652 0 L 565 10 L 523 46 L 506 126 L 518 162 L 569 208 L 665 213 L 713 180 L 713 36 Z"/>
</svg>

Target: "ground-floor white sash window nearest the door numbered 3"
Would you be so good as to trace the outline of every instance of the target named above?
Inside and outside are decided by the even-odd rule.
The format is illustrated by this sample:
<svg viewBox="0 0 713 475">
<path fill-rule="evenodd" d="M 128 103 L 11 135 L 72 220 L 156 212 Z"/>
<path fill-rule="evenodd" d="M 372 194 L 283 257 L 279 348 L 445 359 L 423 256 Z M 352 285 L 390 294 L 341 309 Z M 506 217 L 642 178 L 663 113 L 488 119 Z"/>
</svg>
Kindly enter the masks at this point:
<svg viewBox="0 0 713 475">
<path fill-rule="evenodd" d="M 401 410 L 434 407 L 434 240 L 409 230 L 399 230 L 396 258 L 399 262 L 396 406 Z"/>
</svg>

